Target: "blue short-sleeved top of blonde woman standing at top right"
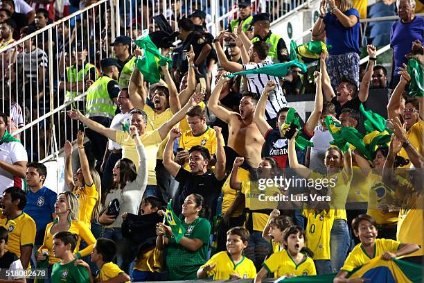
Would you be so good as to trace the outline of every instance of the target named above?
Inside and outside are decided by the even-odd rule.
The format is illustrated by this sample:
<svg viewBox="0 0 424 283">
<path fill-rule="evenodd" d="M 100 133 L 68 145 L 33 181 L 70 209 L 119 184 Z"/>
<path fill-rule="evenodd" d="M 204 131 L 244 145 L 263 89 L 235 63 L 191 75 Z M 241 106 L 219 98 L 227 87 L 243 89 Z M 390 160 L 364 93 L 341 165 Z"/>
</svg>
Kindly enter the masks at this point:
<svg viewBox="0 0 424 283">
<path fill-rule="evenodd" d="M 345 28 L 339 19 L 330 12 L 324 17 L 324 24 L 326 24 L 326 37 L 327 44 L 333 46 L 328 49 L 328 53 L 332 55 L 346 54 L 356 52 L 361 54 L 359 41 L 360 41 L 360 17 L 356 9 L 349 9 L 344 12 L 346 16 L 356 16 L 357 23 L 351 28 Z"/>
</svg>

